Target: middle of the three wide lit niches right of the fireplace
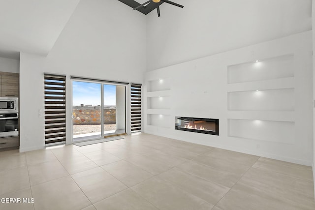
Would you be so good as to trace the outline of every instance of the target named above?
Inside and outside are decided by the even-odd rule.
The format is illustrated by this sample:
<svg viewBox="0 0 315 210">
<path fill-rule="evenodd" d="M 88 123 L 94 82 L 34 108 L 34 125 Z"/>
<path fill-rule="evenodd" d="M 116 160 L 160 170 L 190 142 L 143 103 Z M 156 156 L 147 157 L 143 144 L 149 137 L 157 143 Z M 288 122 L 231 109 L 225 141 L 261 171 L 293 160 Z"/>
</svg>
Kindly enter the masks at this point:
<svg viewBox="0 0 315 210">
<path fill-rule="evenodd" d="M 294 88 L 228 92 L 228 110 L 294 111 Z"/>
</svg>

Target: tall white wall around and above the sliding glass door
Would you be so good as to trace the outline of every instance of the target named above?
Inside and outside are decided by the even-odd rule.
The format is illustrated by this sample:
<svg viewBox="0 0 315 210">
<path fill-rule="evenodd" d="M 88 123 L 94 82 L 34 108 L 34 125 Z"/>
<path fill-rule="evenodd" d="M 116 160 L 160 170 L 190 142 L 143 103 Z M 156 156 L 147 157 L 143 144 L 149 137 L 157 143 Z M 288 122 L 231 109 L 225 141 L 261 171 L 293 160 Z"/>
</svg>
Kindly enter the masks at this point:
<svg viewBox="0 0 315 210">
<path fill-rule="evenodd" d="M 70 75 L 142 83 L 143 40 L 143 14 L 117 0 L 81 0 L 47 57 L 22 52 L 20 151 L 44 148 L 44 118 L 39 113 L 44 109 L 44 72 L 67 76 L 66 137 L 71 143 Z"/>
</svg>

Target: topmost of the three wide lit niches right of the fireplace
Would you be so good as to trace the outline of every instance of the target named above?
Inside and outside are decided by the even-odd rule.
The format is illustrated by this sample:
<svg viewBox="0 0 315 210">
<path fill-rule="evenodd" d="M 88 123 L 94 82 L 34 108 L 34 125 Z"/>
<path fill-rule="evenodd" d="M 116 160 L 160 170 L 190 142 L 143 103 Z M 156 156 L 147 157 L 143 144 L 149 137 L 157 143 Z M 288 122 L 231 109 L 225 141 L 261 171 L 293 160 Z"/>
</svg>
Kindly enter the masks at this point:
<svg viewBox="0 0 315 210">
<path fill-rule="evenodd" d="M 252 60 L 251 62 L 227 67 L 227 83 L 244 83 L 294 77 L 294 56 L 284 55 L 270 59 Z"/>
</svg>

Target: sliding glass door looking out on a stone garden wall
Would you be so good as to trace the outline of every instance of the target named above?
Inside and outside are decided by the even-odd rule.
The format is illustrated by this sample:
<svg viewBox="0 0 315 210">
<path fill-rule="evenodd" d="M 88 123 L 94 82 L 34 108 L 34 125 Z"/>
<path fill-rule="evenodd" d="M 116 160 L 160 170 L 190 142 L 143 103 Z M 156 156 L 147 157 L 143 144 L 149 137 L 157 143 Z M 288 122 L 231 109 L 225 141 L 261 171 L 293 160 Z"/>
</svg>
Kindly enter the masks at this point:
<svg viewBox="0 0 315 210">
<path fill-rule="evenodd" d="M 72 81 L 73 141 L 126 134 L 126 86 Z"/>
</svg>

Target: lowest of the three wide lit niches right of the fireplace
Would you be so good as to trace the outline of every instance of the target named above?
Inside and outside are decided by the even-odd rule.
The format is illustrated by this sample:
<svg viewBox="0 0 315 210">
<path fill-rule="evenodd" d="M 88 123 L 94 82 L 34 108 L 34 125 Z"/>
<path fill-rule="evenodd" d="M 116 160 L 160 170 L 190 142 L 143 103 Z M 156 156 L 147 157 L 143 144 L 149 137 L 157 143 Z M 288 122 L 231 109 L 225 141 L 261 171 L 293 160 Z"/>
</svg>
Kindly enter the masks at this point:
<svg viewBox="0 0 315 210">
<path fill-rule="evenodd" d="M 228 136 L 292 144 L 294 122 L 228 119 Z"/>
</svg>

